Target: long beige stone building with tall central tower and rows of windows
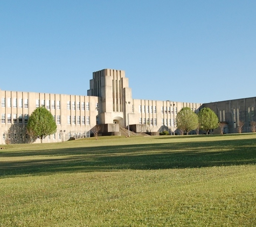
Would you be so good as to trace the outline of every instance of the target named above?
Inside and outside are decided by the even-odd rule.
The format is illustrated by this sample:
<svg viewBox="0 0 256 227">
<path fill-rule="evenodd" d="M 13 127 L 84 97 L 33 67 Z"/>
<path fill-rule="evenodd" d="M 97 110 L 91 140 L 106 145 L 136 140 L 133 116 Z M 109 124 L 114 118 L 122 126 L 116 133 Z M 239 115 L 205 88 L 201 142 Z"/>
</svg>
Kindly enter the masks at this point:
<svg viewBox="0 0 256 227">
<path fill-rule="evenodd" d="M 220 122 L 227 122 L 226 133 L 236 132 L 239 120 L 245 121 L 244 131 L 249 132 L 250 123 L 256 120 L 256 98 L 205 104 L 133 99 L 125 72 L 116 69 L 94 72 L 87 96 L 5 90 L 0 90 L 0 96 L 0 144 L 7 141 L 25 143 L 29 115 L 42 105 L 52 113 L 57 123 L 57 132 L 45 138 L 44 143 L 88 137 L 97 124 L 101 125 L 99 134 L 102 135 L 120 134 L 119 127 L 127 127 L 128 124 L 134 132 L 169 131 L 178 134 L 175 118 L 183 107 L 195 112 L 202 107 L 210 107 Z"/>
</svg>

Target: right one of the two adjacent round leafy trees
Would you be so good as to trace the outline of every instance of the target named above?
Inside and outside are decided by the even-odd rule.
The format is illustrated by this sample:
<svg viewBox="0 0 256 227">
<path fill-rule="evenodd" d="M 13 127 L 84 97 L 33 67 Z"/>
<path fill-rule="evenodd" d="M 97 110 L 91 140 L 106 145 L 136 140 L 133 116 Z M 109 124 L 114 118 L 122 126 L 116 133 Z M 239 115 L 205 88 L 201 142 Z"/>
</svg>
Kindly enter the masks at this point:
<svg viewBox="0 0 256 227">
<path fill-rule="evenodd" d="M 198 113 L 198 120 L 200 128 L 205 130 L 206 134 L 208 134 L 210 129 L 217 129 L 219 126 L 219 119 L 216 113 L 210 108 L 201 109 Z"/>
</svg>

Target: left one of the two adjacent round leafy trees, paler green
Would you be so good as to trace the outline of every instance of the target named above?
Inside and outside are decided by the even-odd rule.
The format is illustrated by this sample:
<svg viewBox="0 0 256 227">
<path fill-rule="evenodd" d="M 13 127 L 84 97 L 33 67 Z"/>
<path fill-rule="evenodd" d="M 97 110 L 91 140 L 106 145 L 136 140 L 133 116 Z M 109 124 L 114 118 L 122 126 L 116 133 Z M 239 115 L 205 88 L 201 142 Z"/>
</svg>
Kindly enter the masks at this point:
<svg viewBox="0 0 256 227">
<path fill-rule="evenodd" d="M 189 107 L 183 107 L 176 116 L 177 128 L 183 134 L 188 134 L 198 127 L 198 117 Z"/>
</svg>

